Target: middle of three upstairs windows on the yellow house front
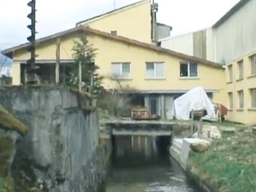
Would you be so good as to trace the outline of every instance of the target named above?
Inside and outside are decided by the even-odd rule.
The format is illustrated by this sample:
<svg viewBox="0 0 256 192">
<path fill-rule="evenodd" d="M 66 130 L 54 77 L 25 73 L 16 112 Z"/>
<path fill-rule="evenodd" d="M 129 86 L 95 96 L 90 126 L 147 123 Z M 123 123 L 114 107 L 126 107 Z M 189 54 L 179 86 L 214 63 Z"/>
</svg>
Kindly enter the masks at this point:
<svg viewBox="0 0 256 192">
<path fill-rule="evenodd" d="M 146 63 L 147 79 L 163 79 L 164 63 Z"/>
</svg>

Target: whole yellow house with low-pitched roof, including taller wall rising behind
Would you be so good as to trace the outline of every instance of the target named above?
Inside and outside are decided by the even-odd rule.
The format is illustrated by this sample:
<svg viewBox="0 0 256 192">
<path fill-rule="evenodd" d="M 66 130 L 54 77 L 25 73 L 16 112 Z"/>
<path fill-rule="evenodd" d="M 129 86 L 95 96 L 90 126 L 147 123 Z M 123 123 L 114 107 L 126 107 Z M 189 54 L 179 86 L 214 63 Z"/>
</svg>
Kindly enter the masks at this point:
<svg viewBox="0 0 256 192">
<path fill-rule="evenodd" d="M 40 82 L 56 83 L 57 51 L 60 51 L 60 82 L 63 81 L 61 73 L 74 62 L 74 40 L 79 34 L 86 33 L 90 44 L 97 49 L 94 63 L 99 66 L 99 74 L 106 77 L 104 88 L 113 90 L 118 88 L 118 84 L 131 87 L 133 91 L 129 94 L 136 98 L 134 105 L 146 106 L 151 115 L 172 118 L 173 100 L 195 86 L 203 86 L 213 102 L 227 103 L 225 68 L 218 63 L 154 44 L 157 24 L 152 19 L 155 15 L 150 16 L 152 7 L 150 1 L 141 1 L 81 22 L 76 28 L 37 40 L 36 65 L 40 67 Z M 143 19 L 135 19 L 138 15 Z M 120 19 L 124 19 L 127 25 L 124 26 Z M 138 31 L 134 25 L 139 28 Z M 15 85 L 26 81 L 28 46 L 23 44 L 3 51 L 13 59 Z"/>
</svg>

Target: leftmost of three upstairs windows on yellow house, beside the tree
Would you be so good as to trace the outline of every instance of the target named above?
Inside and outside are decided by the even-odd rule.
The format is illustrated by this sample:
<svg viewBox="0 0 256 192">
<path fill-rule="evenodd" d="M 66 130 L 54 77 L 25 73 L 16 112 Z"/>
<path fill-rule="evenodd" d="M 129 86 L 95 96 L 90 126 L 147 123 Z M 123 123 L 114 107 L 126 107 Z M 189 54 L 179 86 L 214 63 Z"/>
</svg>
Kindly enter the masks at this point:
<svg viewBox="0 0 256 192">
<path fill-rule="evenodd" d="M 130 79 L 131 64 L 130 63 L 112 63 L 113 79 Z"/>
</svg>

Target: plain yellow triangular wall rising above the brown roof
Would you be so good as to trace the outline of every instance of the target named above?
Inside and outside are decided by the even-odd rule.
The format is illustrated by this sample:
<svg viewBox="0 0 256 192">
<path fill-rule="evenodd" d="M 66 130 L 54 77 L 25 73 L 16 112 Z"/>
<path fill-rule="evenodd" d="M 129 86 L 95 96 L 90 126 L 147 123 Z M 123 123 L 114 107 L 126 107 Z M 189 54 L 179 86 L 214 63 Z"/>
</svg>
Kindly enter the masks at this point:
<svg viewBox="0 0 256 192">
<path fill-rule="evenodd" d="M 88 26 L 106 33 L 115 33 L 115 35 L 151 44 L 150 12 L 150 1 L 144 0 L 78 22 L 76 26 Z"/>
</svg>

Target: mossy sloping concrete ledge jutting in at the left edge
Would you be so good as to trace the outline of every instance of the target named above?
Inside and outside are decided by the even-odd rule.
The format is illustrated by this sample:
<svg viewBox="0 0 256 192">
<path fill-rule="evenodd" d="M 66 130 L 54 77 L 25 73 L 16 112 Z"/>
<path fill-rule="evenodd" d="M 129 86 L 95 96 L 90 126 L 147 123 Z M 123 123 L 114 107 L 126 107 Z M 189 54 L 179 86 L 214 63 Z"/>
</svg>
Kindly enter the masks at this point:
<svg viewBox="0 0 256 192">
<path fill-rule="evenodd" d="M 18 120 L 11 113 L 6 111 L 0 104 L 0 127 L 10 129 L 13 131 L 18 131 L 20 134 L 26 134 L 28 131 L 28 126 L 24 125 L 20 120 Z"/>
</svg>

